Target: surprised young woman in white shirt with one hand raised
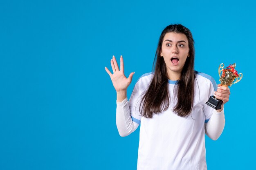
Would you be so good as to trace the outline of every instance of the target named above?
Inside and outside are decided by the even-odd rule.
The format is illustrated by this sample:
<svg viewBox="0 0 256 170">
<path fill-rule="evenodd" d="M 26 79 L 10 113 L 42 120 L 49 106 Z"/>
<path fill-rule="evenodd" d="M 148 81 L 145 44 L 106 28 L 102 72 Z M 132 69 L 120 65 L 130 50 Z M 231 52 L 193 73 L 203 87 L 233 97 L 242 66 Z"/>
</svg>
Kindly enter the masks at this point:
<svg viewBox="0 0 256 170">
<path fill-rule="evenodd" d="M 124 137 L 140 124 L 137 170 L 206 170 L 205 133 L 213 140 L 225 126 L 220 110 L 207 106 L 210 95 L 229 100 L 229 88 L 194 71 L 194 40 L 181 24 L 167 26 L 160 35 L 152 73 L 142 75 L 128 101 L 126 89 L 133 73 L 124 75 L 111 59 L 117 91 L 117 128 Z"/>
</svg>

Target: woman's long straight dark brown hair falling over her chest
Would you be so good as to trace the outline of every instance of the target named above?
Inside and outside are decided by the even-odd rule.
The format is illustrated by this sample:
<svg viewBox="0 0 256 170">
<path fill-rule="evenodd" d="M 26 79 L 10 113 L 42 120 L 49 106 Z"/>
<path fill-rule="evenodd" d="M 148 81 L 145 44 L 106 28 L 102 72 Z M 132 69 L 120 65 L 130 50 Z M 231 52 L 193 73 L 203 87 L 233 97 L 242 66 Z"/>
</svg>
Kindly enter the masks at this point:
<svg viewBox="0 0 256 170">
<path fill-rule="evenodd" d="M 154 75 L 139 106 L 141 115 L 147 118 L 152 118 L 154 113 L 157 114 L 163 110 L 167 110 L 170 105 L 166 64 L 164 62 L 164 57 L 160 57 L 164 35 L 170 32 L 183 33 L 189 41 L 189 57 L 186 58 L 180 79 L 177 81 L 174 88 L 177 91 L 177 104 L 173 108 L 173 111 L 180 117 L 187 117 L 191 113 L 193 107 L 195 78 L 194 40 L 192 33 L 185 26 L 181 24 L 171 24 L 166 26 L 160 35 L 152 68 Z"/>
</svg>

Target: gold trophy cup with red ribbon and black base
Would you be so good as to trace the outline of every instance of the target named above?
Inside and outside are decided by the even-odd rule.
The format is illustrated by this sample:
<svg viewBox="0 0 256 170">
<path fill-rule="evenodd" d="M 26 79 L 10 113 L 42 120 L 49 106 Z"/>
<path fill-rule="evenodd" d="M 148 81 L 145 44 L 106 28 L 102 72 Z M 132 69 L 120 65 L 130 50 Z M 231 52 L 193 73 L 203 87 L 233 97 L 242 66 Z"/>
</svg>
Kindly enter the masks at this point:
<svg viewBox="0 0 256 170">
<path fill-rule="evenodd" d="M 243 74 L 242 73 L 237 73 L 235 70 L 236 63 L 234 64 L 229 64 L 229 66 L 225 69 L 224 64 L 221 63 L 219 66 L 219 76 L 220 76 L 220 85 L 221 86 L 232 86 L 233 84 L 238 83 L 242 78 Z M 222 74 L 220 72 L 222 71 Z M 236 79 L 236 81 L 234 81 Z M 212 108 L 218 110 L 221 109 L 223 101 L 220 99 L 216 99 L 214 96 L 210 96 L 208 102 L 205 104 L 211 106 Z"/>
</svg>

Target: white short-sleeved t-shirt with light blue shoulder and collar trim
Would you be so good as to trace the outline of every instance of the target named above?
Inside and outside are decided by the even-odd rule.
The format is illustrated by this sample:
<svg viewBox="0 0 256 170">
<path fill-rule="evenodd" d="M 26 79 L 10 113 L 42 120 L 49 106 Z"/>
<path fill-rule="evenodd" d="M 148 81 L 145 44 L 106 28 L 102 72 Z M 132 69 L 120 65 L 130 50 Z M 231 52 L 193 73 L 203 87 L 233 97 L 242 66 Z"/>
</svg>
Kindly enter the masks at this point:
<svg viewBox="0 0 256 170">
<path fill-rule="evenodd" d="M 137 170 L 206 170 L 204 123 L 214 109 L 205 102 L 216 91 L 216 82 L 195 71 L 194 104 L 184 118 L 173 113 L 176 81 L 168 80 L 168 110 L 145 118 L 139 113 L 139 101 L 152 77 L 153 73 L 146 73 L 138 79 L 128 102 L 132 121 L 140 124 Z"/>
</svg>

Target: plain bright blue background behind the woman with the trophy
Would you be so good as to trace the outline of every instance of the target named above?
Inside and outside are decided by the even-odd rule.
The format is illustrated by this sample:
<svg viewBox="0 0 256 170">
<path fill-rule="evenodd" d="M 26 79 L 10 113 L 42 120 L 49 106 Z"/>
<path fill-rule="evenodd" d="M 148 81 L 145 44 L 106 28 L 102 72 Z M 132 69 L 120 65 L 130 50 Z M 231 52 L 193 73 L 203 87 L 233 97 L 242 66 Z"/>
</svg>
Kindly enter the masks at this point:
<svg viewBox="0 0 256 170">
<path fill-rule="evenodd" d="M 0 170 L 135 170 L 139 129 L 120 137 L 116 92 L 105 66 L 151 71 L 160 33 L 193 33 L 195 70 L 218 82 L 220 63 L 243 79 L 232 86 L 221 137 L 206 137 L 209 170 L 251 169 L 255 159 L 253 1 L 0 1 Z"/>
</svg>

